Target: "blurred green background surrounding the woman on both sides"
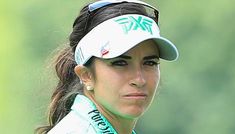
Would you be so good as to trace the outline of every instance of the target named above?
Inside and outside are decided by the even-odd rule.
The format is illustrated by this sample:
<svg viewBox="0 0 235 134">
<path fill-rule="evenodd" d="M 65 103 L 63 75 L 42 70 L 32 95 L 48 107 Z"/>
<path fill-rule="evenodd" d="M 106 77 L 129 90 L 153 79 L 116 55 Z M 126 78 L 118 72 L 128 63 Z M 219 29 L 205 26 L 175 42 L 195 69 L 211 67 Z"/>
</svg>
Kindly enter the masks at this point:
<svg viewBox="0 0 235 134">
<path fill-rule="evenodd" d="M 160 93 L 139 134 L 235 132 L 235 1 L 146 0 L 180 51 L 161 63 Z M 0 1 L 0 133 L 31 134 L 46 121 L 56 79 L 50 58 L 89 1 Z"/>
</svg>

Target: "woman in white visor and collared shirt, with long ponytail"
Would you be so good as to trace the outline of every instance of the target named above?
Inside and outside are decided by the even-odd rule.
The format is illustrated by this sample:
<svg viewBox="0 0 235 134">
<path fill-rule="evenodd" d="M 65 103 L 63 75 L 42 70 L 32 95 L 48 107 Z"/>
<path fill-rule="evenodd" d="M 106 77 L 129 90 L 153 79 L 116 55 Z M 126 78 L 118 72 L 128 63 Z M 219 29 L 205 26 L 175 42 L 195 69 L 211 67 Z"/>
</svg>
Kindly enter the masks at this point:
<svg viewBox="0 0 235 134">
<path fill-rule="evenodd" d="M 70 46 L 56 61 L 59 82 L 49 125 L 37 132 L 135 133 L 154 98 L 160 58 L 178 57 L 159 32 L 158 11 L 147 3 L 101 0 L 85 6 L 73 24 Z"/>
</svg>

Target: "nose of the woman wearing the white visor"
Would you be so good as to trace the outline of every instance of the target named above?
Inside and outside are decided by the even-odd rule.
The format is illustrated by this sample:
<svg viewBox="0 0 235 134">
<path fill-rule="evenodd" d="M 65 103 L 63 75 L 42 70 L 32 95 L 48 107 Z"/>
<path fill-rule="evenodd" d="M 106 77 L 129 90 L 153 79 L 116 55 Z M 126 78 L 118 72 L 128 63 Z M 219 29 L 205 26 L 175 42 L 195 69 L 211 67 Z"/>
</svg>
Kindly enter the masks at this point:
<svg viewBox="0 0 235 134">
<path fill-rule="evenodd" d="M 146 84 L 146 79 L 143 70 L 133 69 L 133 77 L 130 80 L 130 85 L 136 88 L 144 87 Z"/>
</svg>

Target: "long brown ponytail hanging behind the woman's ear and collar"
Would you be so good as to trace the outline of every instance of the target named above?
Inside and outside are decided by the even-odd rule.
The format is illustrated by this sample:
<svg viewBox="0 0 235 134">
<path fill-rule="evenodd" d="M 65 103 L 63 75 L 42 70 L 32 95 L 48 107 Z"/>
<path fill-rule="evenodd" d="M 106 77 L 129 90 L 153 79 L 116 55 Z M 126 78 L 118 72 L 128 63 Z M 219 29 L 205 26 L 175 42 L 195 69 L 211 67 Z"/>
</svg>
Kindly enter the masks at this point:
<svg viewBox="0 0 235 134">
<path fill-rule="evenodd" d="M 39 127 L 36 133 L 46 133 L 53 128 L 70 111 L 78 93 L 83 93 L 83 85 L 74 72 L 76 66 L 72 48 L 64 48 L 55 60 L 58 84 L 51 97 L 48 111 L 48 126 Z"/>
</svg>

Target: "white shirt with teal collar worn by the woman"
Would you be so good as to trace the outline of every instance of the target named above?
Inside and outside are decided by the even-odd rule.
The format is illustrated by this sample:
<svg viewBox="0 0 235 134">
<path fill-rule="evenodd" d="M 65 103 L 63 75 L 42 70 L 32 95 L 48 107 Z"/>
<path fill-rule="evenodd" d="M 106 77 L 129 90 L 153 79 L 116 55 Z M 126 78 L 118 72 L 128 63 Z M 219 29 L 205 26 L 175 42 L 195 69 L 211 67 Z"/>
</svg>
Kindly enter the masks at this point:
<svg viewBox="0 0 235 134">
<path fill-rule="evenodd" d="M 118 134 L 84 95 L 77 95 L 71 111 L 48 134 Z M 136 134 L 134 130 L 132 134 Z"/>
</svg>

